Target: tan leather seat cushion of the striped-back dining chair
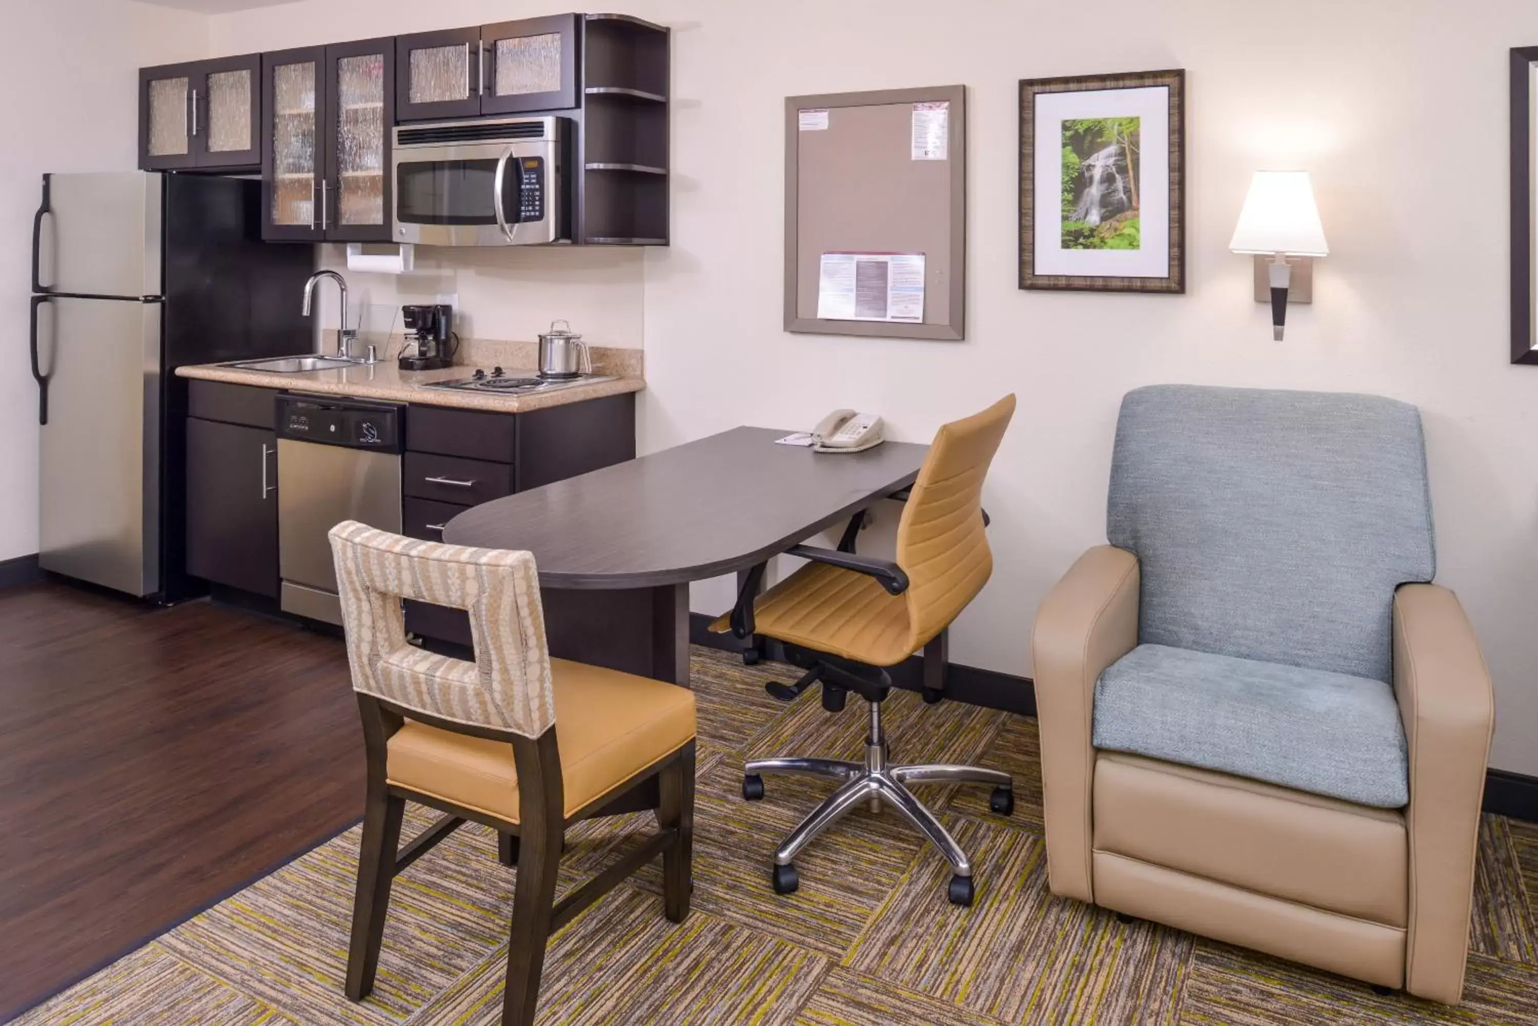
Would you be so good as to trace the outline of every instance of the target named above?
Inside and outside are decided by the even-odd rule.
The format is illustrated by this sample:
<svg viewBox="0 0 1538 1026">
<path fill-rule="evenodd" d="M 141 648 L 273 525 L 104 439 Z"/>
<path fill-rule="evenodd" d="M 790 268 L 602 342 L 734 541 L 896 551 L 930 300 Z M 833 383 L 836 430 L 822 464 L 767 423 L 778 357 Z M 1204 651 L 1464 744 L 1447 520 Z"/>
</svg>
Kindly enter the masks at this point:
<svg viewBox="0 0 1538 1026">
<path fill-rule="evenodd" d="M 694 692 L 600 666 L 551 660 L 555 738 L 571 815 L 694 740 Z M 518 821 L 512 745 L 406 721 L 389 740 L 392 784 Z"/>
</svg>

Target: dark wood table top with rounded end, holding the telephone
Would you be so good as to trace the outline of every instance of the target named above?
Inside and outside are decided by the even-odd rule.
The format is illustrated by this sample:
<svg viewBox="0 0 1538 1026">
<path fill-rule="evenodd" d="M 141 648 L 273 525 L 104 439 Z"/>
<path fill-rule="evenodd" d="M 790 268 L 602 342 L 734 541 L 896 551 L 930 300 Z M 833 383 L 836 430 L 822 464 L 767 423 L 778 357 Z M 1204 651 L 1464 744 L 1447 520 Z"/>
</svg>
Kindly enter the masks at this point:
<svg viewBox="0 0 1538 1026">
<path fill-rule="evenodd" d="M 534 552 L 544 588 L 655 588 L 747 569 L 914 483 L 929 446 L 775 445 L 734 428 L 461 512 L 443 540 Z"/>
</svg>

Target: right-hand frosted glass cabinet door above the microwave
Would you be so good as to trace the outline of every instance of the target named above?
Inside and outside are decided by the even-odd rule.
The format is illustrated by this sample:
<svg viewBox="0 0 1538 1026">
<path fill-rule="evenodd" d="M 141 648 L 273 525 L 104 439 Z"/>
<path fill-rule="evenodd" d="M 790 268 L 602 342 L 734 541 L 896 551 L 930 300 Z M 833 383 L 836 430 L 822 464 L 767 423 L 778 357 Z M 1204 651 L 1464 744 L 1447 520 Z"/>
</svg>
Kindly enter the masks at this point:
<svg viewBox="0 0 1538 1026">
<path fill-rule="evenodd" d="M 483 114 L 560 111 L 577 103 L 577 18 L 557 14 L 488 25 Z"/>
</svg>

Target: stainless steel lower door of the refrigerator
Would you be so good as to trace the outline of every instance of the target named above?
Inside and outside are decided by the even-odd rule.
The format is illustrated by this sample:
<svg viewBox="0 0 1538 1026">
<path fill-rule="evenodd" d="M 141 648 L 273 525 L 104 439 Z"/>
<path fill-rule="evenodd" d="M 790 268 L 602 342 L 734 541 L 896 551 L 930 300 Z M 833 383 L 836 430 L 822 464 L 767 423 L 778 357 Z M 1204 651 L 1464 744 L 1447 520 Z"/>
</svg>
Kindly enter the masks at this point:
<svg viewBox="0 0 1538 1026">
<path fill-rule="evenodd" d="M 131 595 L 160 591 L 160 303 L 43 303 L 38 563 Z"/>
</svg>

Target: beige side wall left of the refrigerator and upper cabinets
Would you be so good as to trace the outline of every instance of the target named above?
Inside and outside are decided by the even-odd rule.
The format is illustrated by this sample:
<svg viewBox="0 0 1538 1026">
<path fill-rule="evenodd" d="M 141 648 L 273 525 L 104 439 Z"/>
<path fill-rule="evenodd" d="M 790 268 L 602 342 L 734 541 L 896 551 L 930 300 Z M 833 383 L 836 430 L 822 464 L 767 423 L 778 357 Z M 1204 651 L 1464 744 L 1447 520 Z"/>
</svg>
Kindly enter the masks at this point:
<svg viewBox="0 0 1538 1026">
<path fill-rule="evenodd" d="M 26 320 L 32 214 L 45 171 L 131 171 L 138 68 L 201 55 L 208 18 L 128 0 L 17 0 L 0 9 L 9 40 L 0 143 L 0 560 L 37 552 L 37 386 Z"/>
</svg>

